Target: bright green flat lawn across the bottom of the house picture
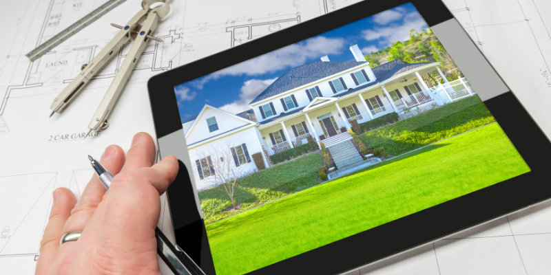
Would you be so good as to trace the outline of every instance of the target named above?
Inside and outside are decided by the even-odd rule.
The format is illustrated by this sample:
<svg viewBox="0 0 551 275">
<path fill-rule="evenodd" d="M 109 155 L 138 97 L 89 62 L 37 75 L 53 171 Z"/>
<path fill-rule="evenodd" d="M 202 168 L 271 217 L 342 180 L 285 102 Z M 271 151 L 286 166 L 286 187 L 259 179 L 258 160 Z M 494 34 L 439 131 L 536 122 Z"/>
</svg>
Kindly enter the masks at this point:
<svg viewBox="0 0 551 275">
<path fill-rule="evenodd" d="M 251 272 L 529 170 L 491 124 L 207 225 L 216 272 Z"/>
</svg>

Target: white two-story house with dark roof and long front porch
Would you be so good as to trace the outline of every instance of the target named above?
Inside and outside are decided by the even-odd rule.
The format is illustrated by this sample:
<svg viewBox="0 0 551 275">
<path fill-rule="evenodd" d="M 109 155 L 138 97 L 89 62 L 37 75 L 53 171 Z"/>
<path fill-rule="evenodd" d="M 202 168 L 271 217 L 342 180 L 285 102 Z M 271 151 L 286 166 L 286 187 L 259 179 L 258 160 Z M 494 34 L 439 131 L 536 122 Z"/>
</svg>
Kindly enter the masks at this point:
<svg viewBox="0 0 551 275">
<path fill-rule="evenodd" d="M 440 63 L 392 61 L 371 68 L 357 45 L 350 50 L 356 61 L 335 62 L 323 56 L 322 61 L 287 70 L 249 104 L 248 111 L 231 114 L 205 105 L 198 115 L 185 118 L 183 128 L 191 162 L 197 166 L 198 188 L 212 174 L 209 162 L 216 161 L 194 158 L 201 146 L 229 137 L 238 140 L 235 145 L 241 149 L 236 149 L 233 165 L 247 165 L 250 172 L 256 169 L 250 155 L 262 152 L 262 147 L 273 155 L 306 143 L 308 135 L 316 142 L 330 143 L 351 128 L 351 120 L 362 123 L 386 113 L 402 115 L 473 93 L 465 79 L 459 89 L 450 86 Z M 448 89 L 426 86 L 422 76 L 435 70 Z"/>
</svg>

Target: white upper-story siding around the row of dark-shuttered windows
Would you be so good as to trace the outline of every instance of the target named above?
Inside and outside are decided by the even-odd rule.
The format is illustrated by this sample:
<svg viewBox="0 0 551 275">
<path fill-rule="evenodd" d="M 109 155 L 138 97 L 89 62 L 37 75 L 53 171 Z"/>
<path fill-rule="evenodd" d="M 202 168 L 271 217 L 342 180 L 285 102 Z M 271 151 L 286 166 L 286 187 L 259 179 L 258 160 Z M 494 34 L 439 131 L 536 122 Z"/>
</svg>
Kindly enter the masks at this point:
<svg viewBox="0 0 551 275">
<path fill-rule="evenodd" d="M 352 76 L 351 76 L 351 74 L 353 72 L 360 72 L 361 69 L 364 69 L 366 74 L 368 75 L 368 77 L 369 77 L 369 82 L 368 83 L 371 83 L 371 82 L 375 81 L 375 75 L 373 74 L 373 72 L 371 72 L 371 68 L 368 65 L 364 65 L 362 67 L 358 67 L 356 69 L 353 69 L 350 72 L 337 74 L 337 75 L 335 75 L 334 77 L 332 77 L 330 79 L 323 80 L 322 82 L 312 83 L 311 85 L 308 85 L 306 87 L 302 87 L 302 88 L 298 89 L 297 91 L 293 91 L 293 93 L 291 93 L 291 94 L 293 94 L 295 96 L 295 98 L 297 100 L 297 103 L 298 103 L 298 107 L 304 107 L 304 106 L 306 106 L 307 104 L 310 103 L 310 100 L 309 100 L 308 96 L 306 96 L 306 89 L 311 89 L 311 88 L 316 87 L 316 86 L 318 86 L 318 88 L 320 88 L 320 93 L 321 93 L 320 96 L 322 96 L 322 97 L 331 98 L 333 96 L 337 96 L 337 95 L 342 94 L 342 93 L 344 93 L 345 91 L 348 91 L 348 90 L 345 89 L 344 91 L 340 91 L 340 93 L 333 94 L 333 89 L 331 89 L 331 86 L 329 85 L 329 81 L 336 80 L 338 78 L 342 78 L 342 80 L 344 80 L 344 83 L 346 84 L 346 88 L 348 88 L 348 89 L 350 89 L 350 88 L 354 89 L 356 87 L 366 85 L 368 83 L 362 83 L 361 85 L 356 85 L 354 83 L 354 80 L 352 79 Z M 260 106 L 265 105 L 265 104 L 269 104 L 269 102 L 272 102 L 273 107 L 275 108 L 275 113 L 276 113 L 275 115 L 280 115 L 280 113 L 287 113 L 288 111 L 293 111 L 293 109 L 289 109 L 289 110 L 285 111 L 285 109 L 283 108 L 283 106 L 281 104 L 281 99 L 286 98 L 287 96 L 291 96 L 291 94 L 282 94 L 281 96 L 278 96 L 277 98 L 273 98 L 270 101 L 251 105 L 251 108 L 253 109 L 258 122 L 262 122 L 262 121 L 267 120 L 269 118 L 273 118 L 273 117 L 262 118 L 262 114 L 260 113 L 260 110 L 259 110 Z"/>
</svg>

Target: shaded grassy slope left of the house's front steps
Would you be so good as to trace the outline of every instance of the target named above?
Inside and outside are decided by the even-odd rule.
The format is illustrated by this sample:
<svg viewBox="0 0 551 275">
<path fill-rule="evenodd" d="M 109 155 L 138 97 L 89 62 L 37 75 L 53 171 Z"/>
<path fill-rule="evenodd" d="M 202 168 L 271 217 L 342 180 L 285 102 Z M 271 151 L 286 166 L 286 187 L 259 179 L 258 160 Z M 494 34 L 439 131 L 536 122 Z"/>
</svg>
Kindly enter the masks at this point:
<svg viewBox="0 0 551 275">
<path fill-rule="evenodd" d="M 242 177 L 234 186 L 233 192 L 238 209 L 233 209 L 222 185 L 200 192 L 199 200 L 205 224 L 315 186 L 320 183 L 318 169 L 321 166 L 320 153 L 311 153 Z"/>
</svg>

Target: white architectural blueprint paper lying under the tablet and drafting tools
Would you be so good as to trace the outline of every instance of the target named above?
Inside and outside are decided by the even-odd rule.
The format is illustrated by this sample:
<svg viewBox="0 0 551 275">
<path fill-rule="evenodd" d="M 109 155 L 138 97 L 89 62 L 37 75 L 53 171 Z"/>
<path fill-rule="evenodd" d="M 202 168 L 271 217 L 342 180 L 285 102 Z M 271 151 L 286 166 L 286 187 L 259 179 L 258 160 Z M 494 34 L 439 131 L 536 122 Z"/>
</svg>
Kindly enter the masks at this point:
<svg viewBox="0 0 551 275">
<path fill-rule="evenodd" d="M 0 23 L 3 25 L 0 43 L 0 274 L 34 274 L 39 243 L 52 204 L 52 190 L 64 186 L 70 188 L 77 198 L 80 197 L 93 175 L 87 155 L 99 157 L 110 144 L 118 144 L 127 150 L 132 136 L 138 131 L 154 135 L 145 85 L 151 76 L 357 1 L 170 1 L 171 15 L 159 24 L 154 33 L 164 43 L 149 42 L 111 115 L 110 127 L 101 133 L 92 133 L 86 140 L 83 137 L 87 123 L 124 60 L 129 44 L 121 47 L 101 74 L 63 113 L 48 118 L 48 107 L 52 98 L 80 72 L 82 65 L 90 61 L 118 32 L 110 23 L 126 23 L 141 8 L 141 1 L 127 0 L 34 62 L 25 57 L 27 52 L 105 3 L 105 0 L 20 0 L 4 3 L 4 8 L 0 10 Z M 551 36 L 547 31 L 551 29 L 551 17 L 543 13 L 543 10 L 551 10 L 549 1 L 445 2 L 550 135 L 551 113 L 544 111 L 548 110 L 546 105 L 551 100 L 548 67 L 551 62 Z M 159 228 L 173 238 L 164 196 L 161 203 L 163 212 Z M 550 212 L 545 210 L 547 208 L 542 209 L 541 212 Z M 547 217 L 551 214 L 548 213 Z M 522 221 L 517 218 L 519 228 Z M 503 229 L 505 224 L 496 226 Z M 514 221 L 511 224 L 511 230 L 514 230 Z M 549 228 L 546 230 L 551 232 Z M 426 257 L 434 257 L 438 250 L 450 255 L 443 248 L 446 247 L 439 244 L 425 248 L 426 251 L 414 254 L 412 259 L 417 259 L 415 257 L 419 255 L 424 257 L 425 254 L 428 255 Z M 461 248 L 457 251 L 463 251 Z M 529 252 L 526 247 L 523 256 L 526 263 L 529 263 Z M 548 255 L 551 256 L 551 252 Z M 442 257 L 445 256 L 441 256 L 440 261 L 444 261 Z M 484 255 L 478 258 L 484 259 Z M 438 270 L 433 259 L 427 260 L 430 265 L 427 268 Z M 443 265 L 442 262 L 440 264 Z M 453 257 L 450 257 L 448 266 L 453 269 Z M 415 269 L 407 270 L 411 272 Z"/>
</svg>

